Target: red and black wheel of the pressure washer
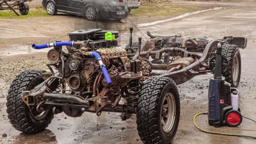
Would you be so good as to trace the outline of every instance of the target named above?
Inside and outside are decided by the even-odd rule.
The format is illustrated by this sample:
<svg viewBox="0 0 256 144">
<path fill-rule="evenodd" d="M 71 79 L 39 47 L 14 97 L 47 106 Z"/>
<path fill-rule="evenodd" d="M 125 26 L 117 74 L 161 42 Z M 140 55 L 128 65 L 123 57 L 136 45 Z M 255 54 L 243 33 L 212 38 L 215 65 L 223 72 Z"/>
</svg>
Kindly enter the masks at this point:
<svg viewBox="0 0 256 144">
<path fill-rule="evenodd" d="M 225 123 L 230 127 L 237 127 L 242 123 L 243 117 L 239 111 L 230 110 L 225 114 Z"/>
</svg>

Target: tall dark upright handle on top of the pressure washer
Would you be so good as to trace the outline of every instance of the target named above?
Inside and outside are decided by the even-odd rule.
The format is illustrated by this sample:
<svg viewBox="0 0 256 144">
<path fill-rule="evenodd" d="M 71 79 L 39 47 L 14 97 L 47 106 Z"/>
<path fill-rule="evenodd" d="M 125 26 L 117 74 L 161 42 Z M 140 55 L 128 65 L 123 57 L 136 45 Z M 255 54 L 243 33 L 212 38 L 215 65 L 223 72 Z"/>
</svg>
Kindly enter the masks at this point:
<svg viewBox="0 0 256 144">
<path fill-rule="evenodd" d="M 222 45 L 220 43 L 217 45 L 214 79 L 222 79 Z"/>
</svg>

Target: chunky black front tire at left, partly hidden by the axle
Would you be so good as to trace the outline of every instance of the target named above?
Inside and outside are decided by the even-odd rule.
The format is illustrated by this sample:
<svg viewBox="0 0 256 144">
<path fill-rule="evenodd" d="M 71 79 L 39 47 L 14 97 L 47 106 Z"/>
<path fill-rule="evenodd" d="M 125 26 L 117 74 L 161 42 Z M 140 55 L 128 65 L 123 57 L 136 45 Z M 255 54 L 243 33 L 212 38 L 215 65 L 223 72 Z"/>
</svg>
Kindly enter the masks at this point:
<svg viewBox="0 0 256 144">
<path fill-rule="evenodd" d="M 21 100 L 21 92 L 32 89 L 42 83 L 42 71 L 26 70 L 15 77 L 7 96 L 7 113 L 10 123 L 19 131 L 27 134 L 44 130 L 53 119 L 52 110 L 32 114 L 33 110 Z"/>
</svg>

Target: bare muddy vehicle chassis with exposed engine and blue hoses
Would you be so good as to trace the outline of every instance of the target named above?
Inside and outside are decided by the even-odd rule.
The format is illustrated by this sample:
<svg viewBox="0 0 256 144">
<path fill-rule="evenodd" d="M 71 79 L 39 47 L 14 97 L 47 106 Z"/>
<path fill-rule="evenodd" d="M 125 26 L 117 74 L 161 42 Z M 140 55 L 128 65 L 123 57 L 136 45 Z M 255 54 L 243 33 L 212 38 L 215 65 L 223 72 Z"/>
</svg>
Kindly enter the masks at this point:
<svg viewBox="0 0 256 144">
<path fill-rule="evenodd" d="M 95 38 L 95 32 L 99 31 L 101 29 L 90 30 L 92 38 Z M 168 47 L 166 41 L 170 38 L 172 41 L 170 45 L 176 46 Z M 244 49 L 247 44 L 246 38 L 237 37 L 211 39 L 184 38 L 179 35 L 174 38 L 179 42 L 173 40 L 173 36 L 154 37 L 151 45 L 155 45 L 159 40 L 162 45 L 167 45 L 156 50 L 154 46 L 149 46 L 147 43 L 141 49 L 142 38 L 139 38 L 137 51 L 134 53 L 117 47 L 117 40 L 88 39 L 56 41 L 56 43 L 44 45 L 33 44 L 34 49 L 54 47 L 48 52 L 48 59 L 51 63 L 46 65 L 50 71 L 43 71 L 42 74 L 38 71 L 24 71 L 20 74 L 21 76 L 16 77 L 7 98 L 8 115 L 11 118 L 16 117 L 16 114 L 12 113 L 15 110 L 13 107 L 20 106 L 15 103 L 13 105 L 13 95 L 16 95 L 17 101 L 20 100 L 20 95 L 15 90 L 16 87 L 20 87 L 20 84 L 17 85 L 15 81 L 22 80 L 28 85 L 27 79 L 24 79 L 26 74 L 37 73 L 37 77 L 42 77 L 43 81 L 29 89 L 30 85 L 34 85 L 34 81 L 37 81 L 37 77 L 31 78 L 32 81 L 27 89 L 19 91 L 21 91 L 22 99 L 20 101 L 26 104 L 30 109 L 30 115 L 39 122 L 45 119 L 45 115 L 51 115 L 52 119 L 54 114 L 62 111 L 71 117 L 79 117 L 84 111 L 95 112 L 97 116 L 100 116 L 102 111 L 121 112 L 123 120 L 130 118 L 134 113 L 137 115 L 139 136 L 144 143 L 152 141 L 170 143 L 176 134 L 179 122 L 180 106 L 176 85 L 196 75 L 211 73 L 214 70 L 216 50 L 219 46 L 233 47 L 232 50 L 236 50 L 236 56 L 240 58 L 238 64 L 241 64 L 238 48 Z M 132 36 L 130 36 L 129 49 L 133 49 L 131 39 Z M 102 47 L 101 44 L 104 46 Z M 62 51 L 62 45 L 67 46 L 68 53 Z M 229 50 L 230 47 L 226 49 Z M 234 52 L 231 51 L 232 55 Z M 223 71 L 232 70 L 229 66 L 230 58 L 224 56 Z M 241 74 L 241 66 L 239 68 L 238 72 Z M 155 71 L 159 69 L 160 72 Z M 163 69 L 166 70 L 163 71 Z M 240 75 L 238 77 L 240 79 Z M 66 84 L 70 89 L 66 88 Z M 123 104 L 120 103 L 121 101 Z M 17 110 L 19 109 L 24 109 L 24 107 L 18 107 Z M 24 117 L 27 118 L 27 115 Z M 26 120 L 26 118 L 23 119 Z M 147 124 L 145 121 L 152 121 L 152 123 Z M 16 126 L 16 118 L 11 119 L 11 122 L 18 130 L 36 133 L 35 131 L 47 127 L 50 121 L 45 122 L 43 128 L 36 129 L 32 129 L 32 126 L 20 129 L 20 125 Z M 159 131 L 164 132 L 159 134 Z M 152 133 L 158 134 L 149 139 Z M 162 138 L 166 136 L 168 138 Z"/>
</svg>

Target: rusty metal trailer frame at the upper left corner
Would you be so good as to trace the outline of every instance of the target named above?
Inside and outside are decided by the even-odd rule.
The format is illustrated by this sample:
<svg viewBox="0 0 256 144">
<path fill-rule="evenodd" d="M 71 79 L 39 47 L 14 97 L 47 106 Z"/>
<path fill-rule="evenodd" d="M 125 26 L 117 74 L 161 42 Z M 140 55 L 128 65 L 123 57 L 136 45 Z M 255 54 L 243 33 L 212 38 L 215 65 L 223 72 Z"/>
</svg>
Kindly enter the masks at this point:
<svg viewBox="0 0 256 144">
<path fill-rule="evenodd" d="M 1 2 L 2 1 L 2 2 Z M 28 2 L 28 1 L 32 1 L 32 0 L 0 0 L 0 6 L 5 3 L 8 7 L 0 7 L 0 10 L 5 10 L 5 9 L 10 9 L 12 10 L 16 15 L 20 16 L 17 11 L 15 9 L 19 9 L 19 8 L 14 8 L 14 7 L 18 7 L 20 4 Z M 8 2 L 14 2 L 9 4 Z"/>
</svg>

